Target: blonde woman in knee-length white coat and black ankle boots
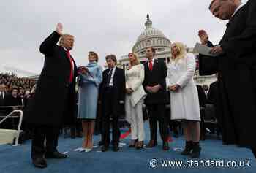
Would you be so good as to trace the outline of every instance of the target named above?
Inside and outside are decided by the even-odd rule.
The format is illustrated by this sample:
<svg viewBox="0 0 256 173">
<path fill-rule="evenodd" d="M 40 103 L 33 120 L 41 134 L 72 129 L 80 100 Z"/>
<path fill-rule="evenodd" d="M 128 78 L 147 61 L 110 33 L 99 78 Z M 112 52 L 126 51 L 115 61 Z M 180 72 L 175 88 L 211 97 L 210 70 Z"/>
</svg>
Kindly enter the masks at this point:
<svg viewBox="0 0 256 173">
<path fill-rule="evenodd" d="M 172 120 L 183 120 L 186 147 L 182 155 L 200 156 L 200 108 L 193 76 L 195 57 L 186 53 L 181 42 L 171 45 L 171 59 L 167 66 L 167 89 L 170 91 Z"/>
</svg>

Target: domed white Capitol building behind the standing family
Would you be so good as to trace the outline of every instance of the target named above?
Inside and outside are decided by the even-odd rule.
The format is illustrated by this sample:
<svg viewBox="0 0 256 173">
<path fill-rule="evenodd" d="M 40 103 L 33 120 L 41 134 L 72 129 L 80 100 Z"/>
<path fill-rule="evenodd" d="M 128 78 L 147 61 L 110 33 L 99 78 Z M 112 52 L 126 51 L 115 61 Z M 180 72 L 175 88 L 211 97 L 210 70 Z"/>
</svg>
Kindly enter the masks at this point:
<svg viewBox="0 0 256 173">
<path fill-rule="evenodd" d="M 154 58 L 159 61 L 165 61 L 166 63 L 170 61 L 170 45 L 171 42 L 167 37 L 157 28 L 152 27 L 152 21 L 147 15 L 145 30 L 138 36 L 138 39 L 135 42 L 135 45 L 132 47 L 132 52 L 137 53 L 140 58 L 141 63 L 143 64 L 146 59 L 146 48 L 154 47 L 156 49 L 156 55 Z M 187 47 L 188 53 L 193 53 L 193 49 Z M 197 53 L 193 53 L 197 61 Z M 125 68 L 129 64 L 128 55 L 123 55 L 118 59 L 118 66 Z M 216 80 L 214 75 L 211 76 L 200 76 L 198 74 L 198 68 L 194 77 L 195 82 L 198 85 L 210 85 L 211 82 Z"/>
</svg>

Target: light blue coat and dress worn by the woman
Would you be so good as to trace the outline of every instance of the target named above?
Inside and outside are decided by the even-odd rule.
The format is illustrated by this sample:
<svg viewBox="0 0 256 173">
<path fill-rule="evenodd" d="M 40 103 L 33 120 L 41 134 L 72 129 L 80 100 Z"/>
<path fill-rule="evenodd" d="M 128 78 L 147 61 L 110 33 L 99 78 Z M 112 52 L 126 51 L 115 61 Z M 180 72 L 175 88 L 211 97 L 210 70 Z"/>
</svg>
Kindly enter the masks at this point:
<svg viewBox="0 0 256 173">
<path fill-rule="evenodd" d="M 80 74 L 78 78 L 78 118 L 95 119 L 99 85 L 102 82 L 102 67 L 96 62 L 90 62 L 86 67 L 89 74 Z"/>
</svg>

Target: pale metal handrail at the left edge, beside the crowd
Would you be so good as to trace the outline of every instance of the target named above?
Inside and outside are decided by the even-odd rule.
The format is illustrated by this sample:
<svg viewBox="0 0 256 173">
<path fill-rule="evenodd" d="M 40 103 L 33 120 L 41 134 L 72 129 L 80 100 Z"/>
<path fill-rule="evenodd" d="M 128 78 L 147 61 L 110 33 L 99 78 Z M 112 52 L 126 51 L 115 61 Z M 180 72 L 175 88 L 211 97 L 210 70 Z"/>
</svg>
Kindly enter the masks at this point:
<svg viewBox="0 0 256 173">
<path fill-rule="evenodd" d="M 17 107 L 17 106 L 11 106 L 11 107 Z M 9 107 L 0 107 L 0 108 L 9 108 Z M 4 117 L 2 120 L 0 120 L 0 124 L 4 122 L 4 120 L 6 120 L 7 118 L 17 118 L 18 115 L 13 115 L 16 112 L 19 112 L 20 114 L 20 120 L 18 123 L 18 130 L 17 130 L 17 137 L 15 138 L 15 144 L 13 146 L 18 146 L 18 141 L 19 141 L 19 137 L 20 137 L 20 128 L 21 128 L 21 123 L 23 120 L 23 111 L 22 110 L 13 110 L 12 112 L 10 112 L 10 114 L 6 115 L 6 116 L 0 116 L 0 117 Z"/>
</svg>

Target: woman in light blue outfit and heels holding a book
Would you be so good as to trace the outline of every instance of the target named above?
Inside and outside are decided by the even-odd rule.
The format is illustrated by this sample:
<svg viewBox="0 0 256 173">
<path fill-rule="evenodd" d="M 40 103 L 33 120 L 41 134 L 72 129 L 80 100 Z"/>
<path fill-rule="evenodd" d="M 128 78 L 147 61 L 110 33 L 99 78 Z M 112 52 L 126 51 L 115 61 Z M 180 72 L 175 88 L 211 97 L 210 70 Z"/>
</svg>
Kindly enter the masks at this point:
<svg viewBox="0 0 256 173">
<path fill-rule="evenodd" d="M 81 152 L 89 152 L 93 147 L 92 135 L 97 115 L 99 85 L 102 82 L 102 67 L 97 64 L 97 53 L 89 52 L 88 59 L 89 64 L 84 69 L 86 74 L 80 74 L 78 82 L 78 118 L 82 120 L 84 134 L 83 145 L 79 149 Z"/>
</svg>

